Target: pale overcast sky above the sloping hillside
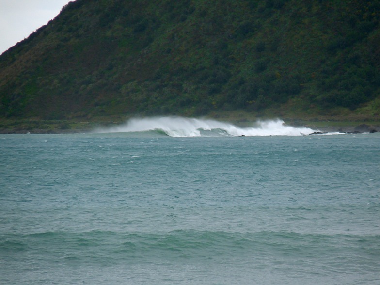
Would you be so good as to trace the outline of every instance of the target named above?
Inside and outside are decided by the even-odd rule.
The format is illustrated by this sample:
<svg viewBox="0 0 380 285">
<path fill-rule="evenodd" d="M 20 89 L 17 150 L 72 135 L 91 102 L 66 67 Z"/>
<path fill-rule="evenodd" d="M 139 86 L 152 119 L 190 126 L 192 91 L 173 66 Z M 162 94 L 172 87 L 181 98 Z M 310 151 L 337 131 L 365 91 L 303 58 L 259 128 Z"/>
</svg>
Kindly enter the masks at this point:
<svg viewBox="0 0 380 285">
<path fill-rule="evenodd" d="M 70 0 L 0 0 L 0 54 L 57 16 Z"/>
</svg>

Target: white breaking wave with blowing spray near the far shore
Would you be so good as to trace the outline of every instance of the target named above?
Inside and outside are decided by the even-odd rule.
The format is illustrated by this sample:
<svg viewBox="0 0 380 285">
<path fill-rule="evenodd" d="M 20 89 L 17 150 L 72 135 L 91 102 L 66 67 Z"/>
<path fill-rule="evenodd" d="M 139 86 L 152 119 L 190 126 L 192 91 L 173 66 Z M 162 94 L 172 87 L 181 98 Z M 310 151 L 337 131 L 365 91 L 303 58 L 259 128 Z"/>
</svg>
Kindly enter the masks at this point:
<svg viewBox="0 0 380 285">
<path fill-rule="evenodd" d="M 258 121 L 252 127 L 237 127 L 231 123 L 185 117 L 148 117 L 130 119 L 126 124 L 98 129 L 98 133 L 157 131 L 171 137 L 215 136 L 300 136 L 315 130 L 286 126 L 283 120 Z"/>
</svg>

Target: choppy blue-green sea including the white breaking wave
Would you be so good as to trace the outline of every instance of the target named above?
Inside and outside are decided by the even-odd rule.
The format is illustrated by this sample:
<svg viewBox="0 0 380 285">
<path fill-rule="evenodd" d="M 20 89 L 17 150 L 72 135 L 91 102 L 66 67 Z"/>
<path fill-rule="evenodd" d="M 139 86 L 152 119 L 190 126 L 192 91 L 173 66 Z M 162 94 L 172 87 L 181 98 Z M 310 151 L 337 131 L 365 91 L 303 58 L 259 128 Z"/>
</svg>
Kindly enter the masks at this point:
<svg viewBox="0 0 380 285">
<path fill-rule="evenodd" d="M 0 135 L 0 284 L 379 284 L 380 134 L 313 131 Z"/>
</svg>

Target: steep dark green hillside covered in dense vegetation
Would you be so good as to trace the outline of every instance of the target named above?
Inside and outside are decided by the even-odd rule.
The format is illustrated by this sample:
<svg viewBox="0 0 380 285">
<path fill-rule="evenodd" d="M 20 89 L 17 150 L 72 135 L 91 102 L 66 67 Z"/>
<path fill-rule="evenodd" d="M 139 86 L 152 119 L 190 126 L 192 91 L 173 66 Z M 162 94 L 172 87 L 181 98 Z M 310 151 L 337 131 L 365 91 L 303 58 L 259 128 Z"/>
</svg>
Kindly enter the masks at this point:
<svg viewBox="0 0 380 285">
<path fill-rule="evenodd" d="M 378 118 L 379 19 L 380 0 L 76 0 L 1 55 L 0 117 Z"/>
</svg>

